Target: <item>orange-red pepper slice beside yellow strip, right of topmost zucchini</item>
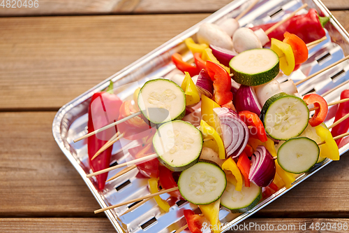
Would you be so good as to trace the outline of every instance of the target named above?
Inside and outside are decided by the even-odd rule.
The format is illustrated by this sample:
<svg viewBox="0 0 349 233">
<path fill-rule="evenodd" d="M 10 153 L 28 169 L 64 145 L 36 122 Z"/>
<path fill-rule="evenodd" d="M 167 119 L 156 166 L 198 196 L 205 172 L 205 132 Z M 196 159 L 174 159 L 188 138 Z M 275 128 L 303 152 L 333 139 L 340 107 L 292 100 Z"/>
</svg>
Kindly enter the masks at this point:
<svg viewBox="0 0 349 233">
<path fill-rule="evenodd" d="M 283 36 L 285 36 L 283 42 L 291 45 L 293 55 L 295 56 L 295 64 L 302 64 L 303 62 L 306 62 L 309 56 L 306 43 L 304 43 L 301 38 L 295 34 L 290 34 L 288 31 L 286 31 Z"/>
</svg>

